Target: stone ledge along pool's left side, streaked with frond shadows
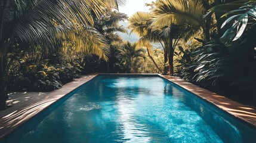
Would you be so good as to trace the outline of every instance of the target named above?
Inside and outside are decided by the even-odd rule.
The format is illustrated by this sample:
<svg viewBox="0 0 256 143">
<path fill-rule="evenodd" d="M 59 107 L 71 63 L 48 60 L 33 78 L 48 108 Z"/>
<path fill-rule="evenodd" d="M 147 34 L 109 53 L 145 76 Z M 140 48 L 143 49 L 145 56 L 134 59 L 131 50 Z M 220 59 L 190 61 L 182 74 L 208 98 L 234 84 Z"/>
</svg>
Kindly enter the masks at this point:
<svg viewBox="0 0 256 143">
<path fill-rule="evenodd" d="M 33 101 L 22 101 L 17 105 L 7 108 L 7 110 L 0 111 L 0 139 L 97 75 L 98 74 L 84 75 L 79 79 L 63 85 L 61 89 L 49 92 L 49 94 L 44 95 L 43 98 L 36 98 L 37 100 Z M 38 93 L 41 94 L 41 92 Z M 29 92 L 27 97 L 29 97 Z"/>
</svg>

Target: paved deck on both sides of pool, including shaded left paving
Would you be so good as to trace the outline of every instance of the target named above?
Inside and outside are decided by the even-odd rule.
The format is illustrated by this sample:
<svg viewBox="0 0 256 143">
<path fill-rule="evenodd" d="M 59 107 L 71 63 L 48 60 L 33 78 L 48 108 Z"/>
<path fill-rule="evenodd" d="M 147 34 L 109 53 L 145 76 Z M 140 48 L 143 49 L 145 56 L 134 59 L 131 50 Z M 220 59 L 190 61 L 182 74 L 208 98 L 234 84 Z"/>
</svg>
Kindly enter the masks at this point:
<svg viewBox="0 0 256 143">
<path fill-rule="evenodd" d="M 0 111 L 0 138 L 97 75 L 98 74 L 88 74 L 82 76 L 79 79 L 63 85 L 63 88 L 53 92 L 13 92 L 9 94 L 11 100 L 10 107 L 7 108 L 7 110 Z M 250 123 L 256 128 L 256 110 L 254 110 L 254 108 L 251 108 L 248 105 L 239 104 L 238 102 L 229 100 L 228 98 L 217 95 L 176 77 L 162 77 L 193 92 L 199 97 L 211 102 L 233 116 Z"/>
</svg>

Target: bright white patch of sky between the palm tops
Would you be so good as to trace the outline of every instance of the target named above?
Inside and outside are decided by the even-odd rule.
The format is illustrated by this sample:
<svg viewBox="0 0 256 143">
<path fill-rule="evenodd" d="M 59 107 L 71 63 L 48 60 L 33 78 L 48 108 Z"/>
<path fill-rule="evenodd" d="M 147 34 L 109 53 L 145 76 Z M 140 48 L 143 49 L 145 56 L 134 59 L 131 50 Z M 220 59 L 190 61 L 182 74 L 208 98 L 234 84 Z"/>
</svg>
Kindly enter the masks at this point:
<svg viewBox="0 0 256 143">
<path fill-rule="evenodd" d="M 150 4 L 155 0 L 126 0 L 124 7 L 119 7 L 120 13 L 125 13 L 130 17 L 137 11 L 149 11 L 150 7 L 146 7 L 145 4 Z"/>
</svg>

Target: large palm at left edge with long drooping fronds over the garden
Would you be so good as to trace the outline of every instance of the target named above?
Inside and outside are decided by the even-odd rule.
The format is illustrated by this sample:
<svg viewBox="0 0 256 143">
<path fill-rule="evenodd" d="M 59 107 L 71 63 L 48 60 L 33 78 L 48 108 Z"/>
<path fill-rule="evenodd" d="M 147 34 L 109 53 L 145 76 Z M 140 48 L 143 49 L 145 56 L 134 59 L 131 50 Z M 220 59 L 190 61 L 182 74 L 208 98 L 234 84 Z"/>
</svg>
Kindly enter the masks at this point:
<svg viewBox="0 0 256 143">
<path fill-rule="evenodd" d="M 77 44 L 77 51 L 107 59 L 104 37 L 92 28 L 94 19 L 110 4 L 118 8 L 124 0 L 0 0 L 0 108 L 7 100 L 7 54 L 14 43 L 54 52 L 64 40 Z M 34 48 L 35 47 L 35 48 Z M 44 50 L 42 50 L 44 51 Z"/>
</svg>

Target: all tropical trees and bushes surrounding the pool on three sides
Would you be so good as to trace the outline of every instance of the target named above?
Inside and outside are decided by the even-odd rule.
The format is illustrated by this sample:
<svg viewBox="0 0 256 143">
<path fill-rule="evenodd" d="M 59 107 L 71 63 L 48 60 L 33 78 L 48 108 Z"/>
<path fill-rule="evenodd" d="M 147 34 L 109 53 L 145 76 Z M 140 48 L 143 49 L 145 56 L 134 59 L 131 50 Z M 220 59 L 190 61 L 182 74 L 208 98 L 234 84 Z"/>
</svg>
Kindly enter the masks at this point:
<svg viewBox="0 0 256 143">
<path fill-rule="evenodd" d="M 7 85 L 51 91 L 94 72 L 172 74 L 255 104 L 256 1 L 156 0 L 129 18 L 124 2 L 0 0 L 0 107 Z M 116 33 L 127 19 L 136 43 Z"/>
</svg>

